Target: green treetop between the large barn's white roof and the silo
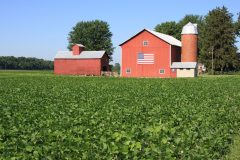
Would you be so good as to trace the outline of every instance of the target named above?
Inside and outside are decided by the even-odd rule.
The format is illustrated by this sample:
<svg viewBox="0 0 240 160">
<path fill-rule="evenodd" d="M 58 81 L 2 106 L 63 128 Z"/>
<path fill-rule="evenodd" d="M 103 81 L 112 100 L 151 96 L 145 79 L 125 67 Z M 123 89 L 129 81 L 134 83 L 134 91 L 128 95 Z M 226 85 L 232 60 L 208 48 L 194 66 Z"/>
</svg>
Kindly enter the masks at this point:
<svg viewBox="0 0 240 160">
<path fill-rule="evenodd" d="M 164 23 L 158 24 L 155 27 L 155 31 L 164 33 L 167 35 L 171 35 L 175 38 L 179 38 L 178 33 L 181 32 L 178 24 L 175 21 L 164 22 Z"/>
</svg>

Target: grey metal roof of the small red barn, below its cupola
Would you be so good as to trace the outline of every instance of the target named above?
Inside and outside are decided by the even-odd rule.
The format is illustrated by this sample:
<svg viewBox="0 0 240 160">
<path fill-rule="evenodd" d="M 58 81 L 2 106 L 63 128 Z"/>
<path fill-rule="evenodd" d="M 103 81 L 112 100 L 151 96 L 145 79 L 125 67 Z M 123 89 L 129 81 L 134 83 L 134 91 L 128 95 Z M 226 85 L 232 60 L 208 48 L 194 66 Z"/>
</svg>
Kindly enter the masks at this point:
<svg viewBox="0 0 240 160">
<path fill-rule="evenodd" d="M 72 51 L 59 51 L 54 59 L 99 59 L 106 51 L 82 51 L 80 55 L 73 55 Z"/>
</svg>

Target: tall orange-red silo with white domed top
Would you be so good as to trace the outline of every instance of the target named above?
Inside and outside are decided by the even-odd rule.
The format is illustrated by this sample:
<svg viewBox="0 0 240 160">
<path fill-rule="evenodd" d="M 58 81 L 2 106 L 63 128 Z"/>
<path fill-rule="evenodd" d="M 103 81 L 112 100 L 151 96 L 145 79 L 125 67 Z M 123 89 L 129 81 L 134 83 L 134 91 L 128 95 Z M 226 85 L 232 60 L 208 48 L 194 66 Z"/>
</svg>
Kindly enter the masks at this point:
<svg viewBox="0 0 240 160">
<path fill-rule="evenodd" d="M 189 22 L 182 30 L 182 62 L 197 62 L 198 29 L 197 24 Z"/>
</svg>

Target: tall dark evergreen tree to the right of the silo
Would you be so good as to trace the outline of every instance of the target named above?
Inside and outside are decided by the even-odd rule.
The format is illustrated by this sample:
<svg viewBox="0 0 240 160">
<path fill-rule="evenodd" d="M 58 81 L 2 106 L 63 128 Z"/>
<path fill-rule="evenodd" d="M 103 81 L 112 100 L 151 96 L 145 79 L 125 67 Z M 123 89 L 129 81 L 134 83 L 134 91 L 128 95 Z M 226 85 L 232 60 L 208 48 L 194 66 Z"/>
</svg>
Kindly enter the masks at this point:
<svg viewBox="0 0 240 160">
<path fill-rule="evenodd" d="M 238 68 L 236 27 L 232 14 L 226 7 L 213 9 L 205 18 L 202 30 L 202 48 L 200 59 L 208 71 L 231 71 Z M 213 68 L 212 68 L 213 50 Z"/>
</svg>

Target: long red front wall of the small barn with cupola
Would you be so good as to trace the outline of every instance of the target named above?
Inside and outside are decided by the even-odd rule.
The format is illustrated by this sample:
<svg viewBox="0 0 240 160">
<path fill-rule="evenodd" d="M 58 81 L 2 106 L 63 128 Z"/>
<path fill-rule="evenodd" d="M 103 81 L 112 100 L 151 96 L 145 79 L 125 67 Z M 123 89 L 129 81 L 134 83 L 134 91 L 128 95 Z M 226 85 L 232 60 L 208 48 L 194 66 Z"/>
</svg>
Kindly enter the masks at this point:
<svg viewBox="0 0 240 160">
<path fill-rule="evenodd" d="M 55 74 L 69 75 L 101 75 L 101 60 L 100 59 L 55 59 L 54 60 Z"/>
</svg>

